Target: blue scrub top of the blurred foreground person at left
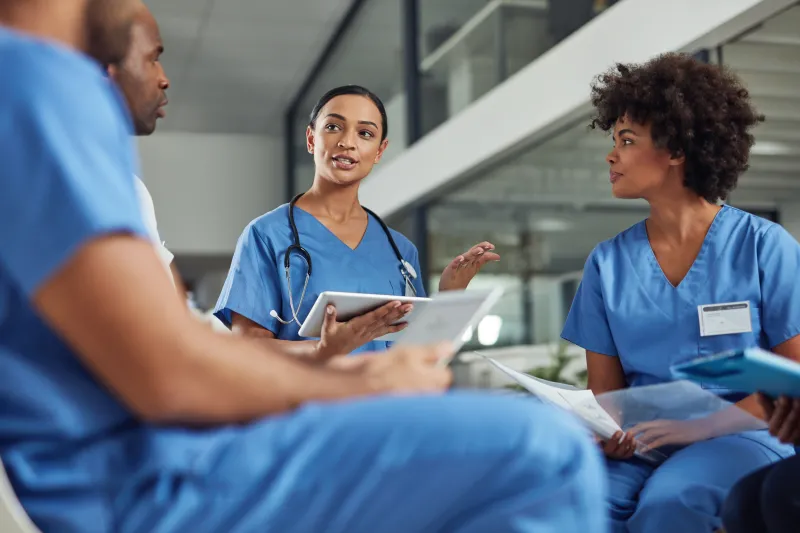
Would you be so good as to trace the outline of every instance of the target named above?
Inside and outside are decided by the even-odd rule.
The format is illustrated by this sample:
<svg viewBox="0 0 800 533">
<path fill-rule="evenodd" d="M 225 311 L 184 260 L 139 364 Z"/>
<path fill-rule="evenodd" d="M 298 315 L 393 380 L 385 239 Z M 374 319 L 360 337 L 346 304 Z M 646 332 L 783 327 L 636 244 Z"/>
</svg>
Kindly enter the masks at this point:
<svg viewBox="0 0 800 533">
<path fill-rule="evenodd" d="M 139 476 L 192 472 L 222 438 L 141 423 L 39 316 L 84 244 L 147 239 L 127 108 L 100 66 L 0 28 L 0 456 L 43 531 L 112 531 Z"/>
</svg>

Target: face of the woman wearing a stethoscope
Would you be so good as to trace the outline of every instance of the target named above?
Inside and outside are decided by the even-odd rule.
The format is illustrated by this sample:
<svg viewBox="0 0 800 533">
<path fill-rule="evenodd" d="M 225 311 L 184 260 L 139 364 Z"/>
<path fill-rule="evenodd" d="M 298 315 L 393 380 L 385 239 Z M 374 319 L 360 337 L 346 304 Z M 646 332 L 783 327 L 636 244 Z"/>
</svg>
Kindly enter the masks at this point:
<svg viewBox="0 0 800 533">
<path fill-rule="evenodd" d="M 366 96 L 332 98 L 320 110 L 315 127 L 306 130 L 317 174 L 340 185 L 361 181 L 388 146 L 388 140 L 381 142 L 382 131 L 381 113 Z"/>
</svg>

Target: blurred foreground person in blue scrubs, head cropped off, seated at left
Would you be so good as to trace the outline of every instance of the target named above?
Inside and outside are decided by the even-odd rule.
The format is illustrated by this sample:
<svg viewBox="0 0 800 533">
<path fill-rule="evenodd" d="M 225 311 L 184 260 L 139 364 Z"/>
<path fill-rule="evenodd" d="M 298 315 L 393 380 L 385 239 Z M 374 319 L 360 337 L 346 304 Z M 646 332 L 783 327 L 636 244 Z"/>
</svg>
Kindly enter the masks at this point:
<svg viewBox="0 0 800 533">
<path fill-rule="evenodd" d="M 0 6 L 24 29 L 0 29 L 0 455 L 36 524 L 604 532 L 599 459 L 563 414 L 438 394 L 441 350 L 313 366 L 186 312 L 139 213 L 124 103 L 75 50 L 116 35 L 87 5 L 123 4 Z"/>
</svg>

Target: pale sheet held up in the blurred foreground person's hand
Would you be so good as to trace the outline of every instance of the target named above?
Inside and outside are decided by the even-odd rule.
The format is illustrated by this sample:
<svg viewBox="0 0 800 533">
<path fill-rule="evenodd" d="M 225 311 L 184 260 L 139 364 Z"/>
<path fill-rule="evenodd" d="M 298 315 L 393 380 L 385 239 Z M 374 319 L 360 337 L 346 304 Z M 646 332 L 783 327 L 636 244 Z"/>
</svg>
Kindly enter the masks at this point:
<svg viewBox="0 0 800 533">
<path fill-rule="evenodd" d="M 478 327 L 501 296 L 502 288 L 441 292 L 408 321 L 408 327 L 397 334 L 395 346 L 450 342 L 455 354 L 464 345 L 467 331 Z"/>
</svg>

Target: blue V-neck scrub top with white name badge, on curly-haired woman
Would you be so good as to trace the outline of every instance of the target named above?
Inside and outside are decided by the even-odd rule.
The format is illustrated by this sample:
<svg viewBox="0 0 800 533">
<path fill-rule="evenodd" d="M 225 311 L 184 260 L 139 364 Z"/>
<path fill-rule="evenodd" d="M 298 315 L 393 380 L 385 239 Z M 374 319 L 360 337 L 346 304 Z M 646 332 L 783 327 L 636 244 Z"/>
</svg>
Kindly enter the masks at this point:
<svg viewBox="0 0 800 533">
<path fill-rule="evenodd" d="M 674 287 L 642 221 L 592 251 L 562 337 L 619 357 L 629 386 L 671 381 L 671 365 L 735 348 L 770 349 L 800 334 L 798 273 L 800 244 L 783 227 L 723 206 Z M 700 335 L 699 305 L 742 301 L 750 302 L 752 332 Z"/>
</svg>

